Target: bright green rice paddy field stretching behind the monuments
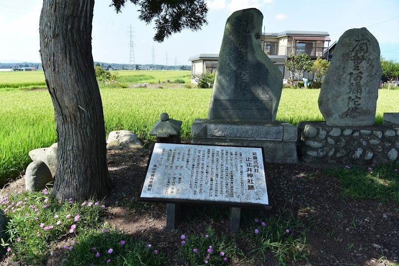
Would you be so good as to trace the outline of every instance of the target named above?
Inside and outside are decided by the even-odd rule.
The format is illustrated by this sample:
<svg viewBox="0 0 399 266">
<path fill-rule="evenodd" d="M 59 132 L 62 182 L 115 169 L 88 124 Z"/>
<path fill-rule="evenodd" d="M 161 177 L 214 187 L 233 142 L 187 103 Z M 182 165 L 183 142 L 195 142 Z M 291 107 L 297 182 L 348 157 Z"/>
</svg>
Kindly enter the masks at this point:
<svg viewBox="0 0 399 266">
<path fill-rule="evenodd" d="M 184 79 L 186 83 L 191 80 L 190 71 L 120 71 L 119 77 L 129 85 L 158 83 L 166 79 Z M 134 81 L 138 77 L 140 80 Z M 29 150 L 50 146 L 57 141 L 50 95 L 45 89 L 29 90 L 39 85 L 24 85 L 44 82 L 40 79 L 44 80 L 42 71 L 0 72 L 0 184 L 18 176 L 26 168 L 31 161 Z M 135 132 L 142 139 L 148 137 L 162 112 L 183 121 L 182 137 L 189 139 L 194 120 L 206 118 L 211 95 L 210 89 L 187 89 L 183 84 L 181 88 L 170 89 L 101 86 L 100 92 L 107 135 L 124 129 Z M 317 104 L 319 92 L 283 89 L 277 120 L 293 125 L 300 121 L 324 120 Z M 382 124 L 385 112 L 399 112 L 399 90 L 379 91 L 377 124 Z"/>
</svg>

